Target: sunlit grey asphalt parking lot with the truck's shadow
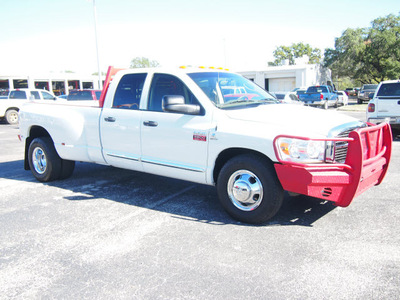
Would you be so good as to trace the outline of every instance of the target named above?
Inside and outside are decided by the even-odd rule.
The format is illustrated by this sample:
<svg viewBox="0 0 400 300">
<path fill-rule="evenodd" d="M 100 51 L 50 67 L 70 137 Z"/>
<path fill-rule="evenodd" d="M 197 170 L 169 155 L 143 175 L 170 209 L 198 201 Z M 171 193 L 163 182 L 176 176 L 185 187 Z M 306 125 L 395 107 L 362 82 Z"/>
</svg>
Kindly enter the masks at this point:
<svg viewBox="0 0 400 300">
<path fill-rule="evenodd" d="M 209 186 L 88 163 L 40 183 L 17 134 L 0 124 L 0 299 L 399 298 L 399 139 L 348 208 L 286 195 L 253 226 Z"/>
</svg>

